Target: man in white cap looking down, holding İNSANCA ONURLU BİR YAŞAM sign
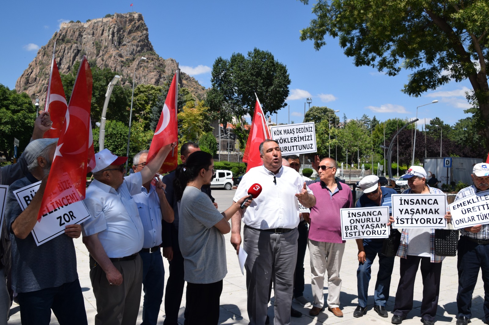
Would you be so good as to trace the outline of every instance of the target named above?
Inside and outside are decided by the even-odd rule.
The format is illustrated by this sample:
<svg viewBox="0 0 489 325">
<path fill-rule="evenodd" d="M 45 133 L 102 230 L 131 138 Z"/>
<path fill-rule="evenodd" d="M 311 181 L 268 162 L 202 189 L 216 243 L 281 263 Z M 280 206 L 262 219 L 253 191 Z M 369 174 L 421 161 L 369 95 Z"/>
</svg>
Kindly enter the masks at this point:
<svg viewBox="0 0 489 325">
<path fill-rule="evenodd" d="M 397 194 L 391 187 L 381 187 L 378 177 L 375 175 L 365 176 L 358 186 L 363 190 L 363 195 L 356 203 L 356 207 L 388 206 L 392 214 L 392 194 Z M 397 231 L 397 229 L 393 230 Z M 362 317 L 367 308 L 368 284 L 371 277 L 371 266 L 378 255 L 378 273 L 375 284 L 374 310 L 381 317 L 387 317 L 385 305 L 389 299 L 389 288 L 391 285 L 394 257 L 380 254 L 383 239 L 356 239 L 358 246 L 358 269 L 356 281 L 358 289 L 358 306 L 353 312 L 353 317 Z"/>
</svg>

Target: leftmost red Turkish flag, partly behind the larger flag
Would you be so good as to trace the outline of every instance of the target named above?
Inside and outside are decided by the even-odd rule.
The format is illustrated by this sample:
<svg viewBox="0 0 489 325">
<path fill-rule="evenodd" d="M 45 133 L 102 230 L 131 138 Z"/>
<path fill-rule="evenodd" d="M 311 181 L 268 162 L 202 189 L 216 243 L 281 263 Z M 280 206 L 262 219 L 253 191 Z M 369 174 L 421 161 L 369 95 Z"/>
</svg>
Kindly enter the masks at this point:
<svg viewBox="0 0 489 325">
<path fill-rule="evenodd" d="M 51 61 L 51 74 L 49 75 L 49 83 L 47 84 L 46 104 L 44 111 L 51 115 L 51 128 L 44 133 L 44 138 L 59 138 L 61 127 L 65 122 L 66 109 L 68 108 L 65 96 L 65 90 L 61 83 L 60 73 L 56 60 Z"/>
</svg>

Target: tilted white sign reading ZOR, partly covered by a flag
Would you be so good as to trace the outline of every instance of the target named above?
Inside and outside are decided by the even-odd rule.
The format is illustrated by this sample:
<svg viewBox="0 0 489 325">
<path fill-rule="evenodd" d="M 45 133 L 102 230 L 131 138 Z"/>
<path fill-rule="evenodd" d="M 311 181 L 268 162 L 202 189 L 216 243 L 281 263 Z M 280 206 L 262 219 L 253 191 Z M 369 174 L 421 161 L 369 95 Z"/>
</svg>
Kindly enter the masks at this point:
<svg viewBox="0 0 489 325">
<path fill-rule="evenodd" d="M 34 198 L 41 182 L 33 183 L 14 191 L 15 198 L 21 205 L 22 211 Z M 68 224 L 83 223 L 90 217 L 90 213 L 83 201 L 72 203 L 69 197 L 64 198 L 63 206 L 43 214 L 41 220 L 36 222 L 32 229 L 34 241 L 39 246 L 45 242 L 65 233 Z"/>
</svg>

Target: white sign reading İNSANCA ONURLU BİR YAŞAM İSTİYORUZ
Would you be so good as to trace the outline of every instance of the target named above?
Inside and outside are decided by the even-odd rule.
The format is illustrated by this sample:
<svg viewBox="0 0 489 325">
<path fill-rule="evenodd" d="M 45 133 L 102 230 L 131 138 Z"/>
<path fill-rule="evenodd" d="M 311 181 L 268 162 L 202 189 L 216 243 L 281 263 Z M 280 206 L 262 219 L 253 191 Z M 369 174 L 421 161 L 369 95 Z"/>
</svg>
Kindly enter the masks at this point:
<svg viewBox="0 0 489 325">
<path fill-rule="evenodd" d="M 341 239 L 387 238 L 390 229 L 388 206 L 340 209 Z"/>
</svg>

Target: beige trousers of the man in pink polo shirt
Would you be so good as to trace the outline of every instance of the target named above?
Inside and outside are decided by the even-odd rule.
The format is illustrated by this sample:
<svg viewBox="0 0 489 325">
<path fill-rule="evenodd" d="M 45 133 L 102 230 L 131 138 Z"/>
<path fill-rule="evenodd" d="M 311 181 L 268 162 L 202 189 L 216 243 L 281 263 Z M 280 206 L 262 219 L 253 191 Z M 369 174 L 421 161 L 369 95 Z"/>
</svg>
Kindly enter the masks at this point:
<svg viewBox="0 0 489 325">
<path fill-rule="evenodd" d="M 328 271 L 328 306 L 339 307 L 339 294 L 341 292 L 341 278 L 339 269 L 345 251 L 345 244 L 325 243 L 309 240 L 309 254 L 311 260 L 311 289 L 314 307 L 324 306 L 324 275 Z"/>
</svg>

